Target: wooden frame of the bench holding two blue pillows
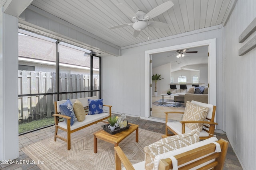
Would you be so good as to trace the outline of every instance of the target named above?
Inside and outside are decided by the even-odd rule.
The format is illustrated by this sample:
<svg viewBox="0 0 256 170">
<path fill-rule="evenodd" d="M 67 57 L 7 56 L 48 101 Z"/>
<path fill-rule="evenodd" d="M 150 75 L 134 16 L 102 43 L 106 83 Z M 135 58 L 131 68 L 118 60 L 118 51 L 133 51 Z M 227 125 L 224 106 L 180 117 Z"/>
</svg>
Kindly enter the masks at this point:
<svg viewBox="0 0 256 170">
<path fill-rule="evenodd" d="M 87 99 L 87 98 L 84 98 L 84 99 Z M 96 96 L 88 97 L 88 99 L 95 100 L 95 99 L 97 99 L 97 97 L 96 97 Z M 79 99 L 78 99 L 78 100 L 79 100 Z M 63 103 L 64 103 L 65 101 L 66 101 L 66 100 L 63 100 Z M 59 102 L 60 102 L 60 101 L 59 101 Z M 83 106 L 84 106 L 84 105 L 83 105 Z M 108 122 L 106 122 L 106 121 L 104 121 L 104 120 L 111 116 L 111 107 L 112 107 L 112 106 L 110 106 L 110 105 L 103 105 L 103 106 L 109 107 L 109 115 L 108 115 L 108 116 L 106 116 L 106 117 L 104 117 L 104 118 L 102 118 L 102 119 L 99 119 L 99 120 L 95 120 L 95 121 L 92 122 L 92 123 L 88 123 L 88 124 L 86 124 L 86 125 L 83 125 L 83 126 L 81 126 L 81 127 L 76 128 L 76 129 L 70 130 L 70 127 L 71 127 L 71 126 L 70 126 L 70 119 L 71 119 L 71 117 L 66 116 L 66 115 L 61 115 L 60 112 L 58 112 L 58 109 L 57 109 L 57 102 L 55 101 L 55 102 L 54 102 L 54 107 L 55 107 L 55 112 L 56 112 L 56 114 L 53 114 L 53 115 L 52 115 L 52 116 L 54 116 L 54 122 L 55 122 L 54 141 L 56 142 L 56 139 L 57 139 L 57 138 L 61 139 L 62 141 L 64 141 L 64 142 L 67 143 L 68 150 L 70 150 L 70 149 L 71 149 L 71 139 L 70 139 L 71 133 L 74 133 L 74 132 L 76 132 L 76 131 L 79 131 L 80 129 L 84 129 L 85 127 L 88 127 L 88 126 L 90 126 L 90 125 L 96 124 L 96 123 L 98 123 L 98 122 L 100 122 L 100 121 L 102 121 L 102 122 L 104 122 L 104 123 L 108 123 Z M 89 110 L 89 108 L 88 108 L 88 104 L 87 104 L 87 106 L 84 106 L 84 111 L 85 111 L 86 115 L 88 115 L 88 110 Z M 66 123 L 67 123 L 67 128 L 63 128 L 63 127 L 58 126 L 58 123 L 64 121 L 62 118 L 64 118 L 64 119 L 67 120 L 67 121 L 66 121 Z M 85 118 L 85 120 L 86 120 L 86 118 Z M 65 132 L 67 133 L 67 139 L 65 139 L 65 138 L 63 138 L 63 137 L 61 137 L 61 136 L 58 135 L 58 129 L 61 129 L 62 131 L 65 131 Z"/>
</svg>

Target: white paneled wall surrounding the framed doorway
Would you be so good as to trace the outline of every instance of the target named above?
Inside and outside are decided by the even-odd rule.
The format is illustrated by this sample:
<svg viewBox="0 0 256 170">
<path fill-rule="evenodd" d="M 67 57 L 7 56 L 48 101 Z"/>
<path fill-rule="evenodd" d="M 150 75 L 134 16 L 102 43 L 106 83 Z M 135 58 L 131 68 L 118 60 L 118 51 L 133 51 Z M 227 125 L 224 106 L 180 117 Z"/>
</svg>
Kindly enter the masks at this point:
<svg viewBox="0 0 256 170">
<path fill-rule="evenodd" d="M 215 28 L 215 29 L 214 29 Z M 217 87 L 222 87 L 222 28 L 174 35 L 172 39 L 122 49 L 122 56 L 102 57 L 102 92 L 112 111 L 145 116 L 145 51 L 216 38 Z M 160 80 L 162 81 L 162 80 Z M 222 88 L 217 88 L 217 129 L 223 129 Z"/>
</svg>

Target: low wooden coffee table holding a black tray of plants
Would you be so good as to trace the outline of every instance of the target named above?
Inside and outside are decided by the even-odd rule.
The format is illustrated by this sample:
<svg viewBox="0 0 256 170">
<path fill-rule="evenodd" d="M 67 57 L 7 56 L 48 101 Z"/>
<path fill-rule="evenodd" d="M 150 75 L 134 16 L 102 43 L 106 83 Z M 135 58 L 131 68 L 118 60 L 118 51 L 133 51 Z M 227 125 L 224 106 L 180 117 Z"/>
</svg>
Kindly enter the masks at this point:
<svg viewBox="0 0 256 170">
<path fill-rule="evenodd" d="M 94 153 L 97 153 L 97 139 L 101 139 L 103 141 L 112 143 L 115 145 L 115 147 L 118 146 L 118 144 L 124 140 L 126 137 L 128 137 L 128 135 L 130 135 L 132 132 L 134 132 L 136 130 L 136 142 L 139 141 L 139 125 L 134 125 L 132 123 L 128 123 L 130 124 L 130 128 L 116 133 L 114 135 L 109 134 L 108 132 L 104 131 L 103 129 L 100 131 L 97 131 L 95 133 L 93 133 L 94 135 Z"/>
</svg>

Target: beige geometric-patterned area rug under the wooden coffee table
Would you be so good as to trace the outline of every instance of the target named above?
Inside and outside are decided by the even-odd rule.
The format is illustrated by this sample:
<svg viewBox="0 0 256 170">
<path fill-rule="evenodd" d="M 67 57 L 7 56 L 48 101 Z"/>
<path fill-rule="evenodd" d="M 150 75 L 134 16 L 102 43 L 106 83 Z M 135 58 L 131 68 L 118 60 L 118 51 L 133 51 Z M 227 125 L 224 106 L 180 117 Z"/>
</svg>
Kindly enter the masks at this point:
<svg viewBox="0 0 256 170">
<path fill-rule="evenodd" d="M 67 144 L 54 137 L 32 143 L 22 148 L 35 162 L 44 161 L 38 164 L 42 170 L 114 170 L 115 156 L 114 145 L 98 139 L 98 153 L 94 153 L 93 133 L 102 129 L 101 125 L 91 125 L 85 129 L 71 134 L 71 149 L 67 150 Z M 59 131 L 58 131 L 59 132 Z M 62 137 L 66 133 L 61 131 Z M 135 131 L 119 143 L 132 164 L 144 160 L 143 149 L 160 139 L 163 134 L 147 131 L 139 128 L 139 142 L 135 142 Z"/>
</svg>

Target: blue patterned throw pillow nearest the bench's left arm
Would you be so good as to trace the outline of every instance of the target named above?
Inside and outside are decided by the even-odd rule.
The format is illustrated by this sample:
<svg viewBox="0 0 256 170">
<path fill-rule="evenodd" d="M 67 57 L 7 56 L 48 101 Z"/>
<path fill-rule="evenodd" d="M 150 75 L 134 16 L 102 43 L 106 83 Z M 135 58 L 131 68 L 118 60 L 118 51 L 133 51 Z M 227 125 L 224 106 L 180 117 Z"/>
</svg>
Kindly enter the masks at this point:
<svg viewBox="0 0 256 170">
<path fill-rule="evenodd" d="M 74 113 L 72 102 L 69 99 L 67 99 L 65 103 L 60 104 L 60 113 L 62 115 L 71 117 L 70 125 L 72 126 L 74 124 L 76 116 Z M 64 119 L 64 121 L 67 123 L 67 119 Z"/>
</svg>

